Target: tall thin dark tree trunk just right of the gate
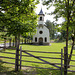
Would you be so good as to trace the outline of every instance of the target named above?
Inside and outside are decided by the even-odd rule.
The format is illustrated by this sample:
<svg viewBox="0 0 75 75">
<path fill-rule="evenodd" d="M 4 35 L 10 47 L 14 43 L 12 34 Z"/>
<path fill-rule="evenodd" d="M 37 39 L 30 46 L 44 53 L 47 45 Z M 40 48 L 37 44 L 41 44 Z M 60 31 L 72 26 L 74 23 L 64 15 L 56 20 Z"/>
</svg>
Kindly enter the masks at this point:
<svg viewBox="0 0 75 75">
<path fill-rule="evenodd" d="M 69 13 L 69 0 L 65 0 L 66 2 L 66 8 L 67 8 L 67 26 L 66 26 L 66 56 L 65 56 L 65 61 L 64 61 L 64 75 L 67 75 L 67 67 L 68 67 L 68 34 L 69 34 L 69 17 L 70 17 L 70 13 Z M 65 66 L 66 65 L 66 66 Z"/>
</svg>

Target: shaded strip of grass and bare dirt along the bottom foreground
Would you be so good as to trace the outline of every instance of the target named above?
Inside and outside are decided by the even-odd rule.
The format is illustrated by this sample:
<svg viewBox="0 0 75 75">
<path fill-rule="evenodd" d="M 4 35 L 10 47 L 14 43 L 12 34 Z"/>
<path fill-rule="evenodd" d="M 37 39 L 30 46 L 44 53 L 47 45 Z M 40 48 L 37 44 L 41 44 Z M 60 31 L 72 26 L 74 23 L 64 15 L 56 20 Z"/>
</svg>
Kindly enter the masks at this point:
<svg viewBox="0 0 75 75">
<path fill-rule="evenodd" d="M 0 59 L 0 61 L 2 61 Z M 38 67 L 38 66 L 36 66 Z M 38 69 L 38 68 L 28 68 L 21 71 L 15 72 L 11 67 L 4 66 L 0 62 L 0 75 L 61 75 L 60 70 L 50 70 L 50 69 Z M 64 75 L 64 74 L 63 74 Z M 75 75 L 75 73 L 68 73 L 67 75 Z"/>
</svg>

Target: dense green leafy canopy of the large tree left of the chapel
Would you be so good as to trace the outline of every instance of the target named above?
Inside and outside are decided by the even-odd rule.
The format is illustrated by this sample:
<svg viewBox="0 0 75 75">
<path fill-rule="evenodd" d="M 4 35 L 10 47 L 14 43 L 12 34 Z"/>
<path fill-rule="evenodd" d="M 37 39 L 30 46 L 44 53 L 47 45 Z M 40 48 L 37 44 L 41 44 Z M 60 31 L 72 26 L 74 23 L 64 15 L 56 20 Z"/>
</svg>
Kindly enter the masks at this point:
<svg viewBox="0 0 75 75">
<path fill-rule="evenodd" d="M 38 0 L 2 0 L 0 2 L 0 27 L 7 31 L 6 35 L 14 35 L 18 39 L 21 34 L 32 32 L 37 25 L 35 5 Z"/>
</svg>

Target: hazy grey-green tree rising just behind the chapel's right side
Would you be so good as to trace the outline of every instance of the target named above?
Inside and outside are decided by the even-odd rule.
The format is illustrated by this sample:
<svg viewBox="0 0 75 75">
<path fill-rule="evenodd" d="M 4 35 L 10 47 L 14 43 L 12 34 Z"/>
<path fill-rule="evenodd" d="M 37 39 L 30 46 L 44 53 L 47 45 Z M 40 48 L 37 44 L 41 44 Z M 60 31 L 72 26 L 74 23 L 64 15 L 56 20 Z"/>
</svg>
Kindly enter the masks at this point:
<svg viewBox="0 0 75 75">
<path fill-rule="evenodd" d="M 51 39 L 54 39 L 54 34 L 56 32 L 54 23 L 50 20 L 46 20 L 45 26 L 49 29 Z"/>
</svg>

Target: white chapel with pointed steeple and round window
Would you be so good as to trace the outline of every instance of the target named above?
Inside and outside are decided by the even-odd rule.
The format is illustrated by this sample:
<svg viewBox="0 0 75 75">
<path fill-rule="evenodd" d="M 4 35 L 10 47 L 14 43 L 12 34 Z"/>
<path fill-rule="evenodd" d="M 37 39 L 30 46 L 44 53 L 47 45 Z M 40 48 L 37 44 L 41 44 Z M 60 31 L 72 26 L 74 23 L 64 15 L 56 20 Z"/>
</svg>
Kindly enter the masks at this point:
<svg viewBox="0 0 75 75">
<path fill-rule="evenodd" d="M 44 25 L 44 16 L 42 9 L 39 12 L 38 26 L 36 27 L 36 34 L 33 36 L 33 44 L 38 45 L 49 45 L 50 44 L 50 33 L 49 29 Z"/>
</svg>

